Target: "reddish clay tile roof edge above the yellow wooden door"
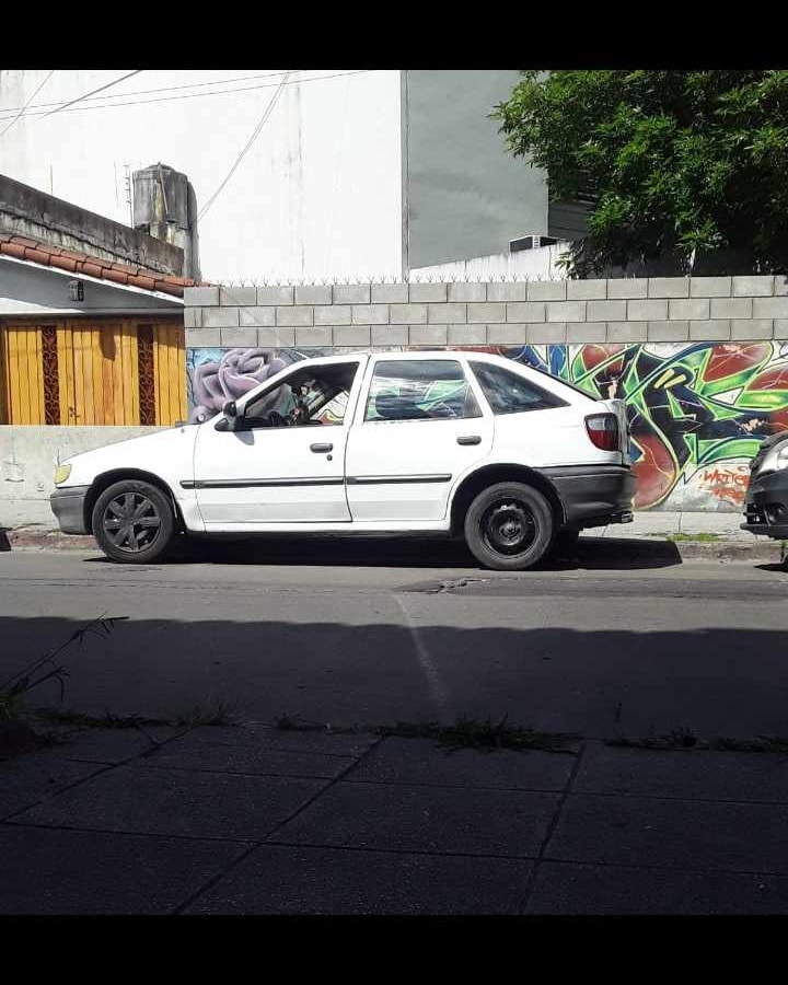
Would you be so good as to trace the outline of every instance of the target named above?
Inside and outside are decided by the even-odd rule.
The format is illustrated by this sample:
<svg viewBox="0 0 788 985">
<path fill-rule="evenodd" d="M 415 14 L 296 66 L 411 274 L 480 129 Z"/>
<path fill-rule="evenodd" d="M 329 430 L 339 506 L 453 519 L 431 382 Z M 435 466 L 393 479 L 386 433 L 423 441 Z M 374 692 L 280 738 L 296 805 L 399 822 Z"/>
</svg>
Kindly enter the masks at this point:
<svg viewBox="0 0 788 985">
<path fill-rule="evenodd" d="M 200 285 L 200 281 L 189 280 L 187 277 L 173 277 L 135 264 L 111 263 L 97 256 L 76 253 L 62 246 L 50 246 L 40 240 L 31 240 L 14 233 L 0 232 L 0 255 L 40 264 L 44 267 L 57 267 L 70 274 L 112 280 L 114 283 L 142 288 L 146 291 L 162 291 L 175 298 L 183 298 L 185 287 Z"/>
</svg>

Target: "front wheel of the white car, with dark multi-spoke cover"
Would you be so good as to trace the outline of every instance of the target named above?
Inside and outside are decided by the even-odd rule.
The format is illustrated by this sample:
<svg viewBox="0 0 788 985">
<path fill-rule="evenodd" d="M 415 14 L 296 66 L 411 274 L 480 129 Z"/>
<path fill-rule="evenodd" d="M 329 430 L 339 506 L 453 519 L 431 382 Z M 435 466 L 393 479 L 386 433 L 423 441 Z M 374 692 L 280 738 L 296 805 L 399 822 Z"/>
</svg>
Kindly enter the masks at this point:
<svg viewBox="0 0 788 985">
<path fill-rule="evenodd" d="M 163 557 L 170 547 L 175 513 L 170 497 L 158 486 L 121 479 L 96 499 L 91 526 L 111 560 L 142 565 Z"/>
</svg>

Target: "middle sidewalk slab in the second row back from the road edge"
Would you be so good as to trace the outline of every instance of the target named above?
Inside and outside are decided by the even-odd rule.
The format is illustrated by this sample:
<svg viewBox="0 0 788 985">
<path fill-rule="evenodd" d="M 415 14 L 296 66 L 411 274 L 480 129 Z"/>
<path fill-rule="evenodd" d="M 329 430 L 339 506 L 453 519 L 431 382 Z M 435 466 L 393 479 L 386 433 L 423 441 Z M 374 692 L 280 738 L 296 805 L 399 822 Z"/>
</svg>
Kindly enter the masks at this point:
<svg viewBox="0 0 788 985">
<path fill-rule="evenodd" d="M 339 781 L 281 827 L 278 844 L 534 856 L 556 793 Z"/>
</svg>

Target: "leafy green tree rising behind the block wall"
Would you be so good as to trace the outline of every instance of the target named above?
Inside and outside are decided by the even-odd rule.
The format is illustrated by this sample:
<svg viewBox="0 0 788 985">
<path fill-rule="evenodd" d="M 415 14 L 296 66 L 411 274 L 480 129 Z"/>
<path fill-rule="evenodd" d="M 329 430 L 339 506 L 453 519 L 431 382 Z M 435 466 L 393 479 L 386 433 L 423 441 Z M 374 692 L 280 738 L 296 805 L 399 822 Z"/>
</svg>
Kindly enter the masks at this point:
<svg viewBox="0 0 788 985">
<path fill-rule="evenodd" d="M 788 269 L 788 71 L 522 72 L 493 114 L 551 198 L 591 204 L 570 276 Z"/>
</svg>

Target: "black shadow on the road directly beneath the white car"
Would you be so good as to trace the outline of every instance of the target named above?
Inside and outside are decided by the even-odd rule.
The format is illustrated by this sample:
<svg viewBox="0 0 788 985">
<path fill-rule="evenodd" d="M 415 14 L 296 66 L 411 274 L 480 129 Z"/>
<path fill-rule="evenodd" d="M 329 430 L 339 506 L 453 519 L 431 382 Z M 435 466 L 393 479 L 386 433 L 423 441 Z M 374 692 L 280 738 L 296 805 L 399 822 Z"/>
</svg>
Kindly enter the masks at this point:
<svg viewBox="0 0 788 985">
<path fill-rule="evenodd" d="M 113 564 L 106 557 L 89 564 Z M 424 537 L 250 536 L 245 541 L 184 538 L 155 565 L 292 565 L 361 568 L 471 568 L 482 570 L 461 541 Z M 682 564 L 675 544 L 613 537 L 583 537 L 577 547 L 555 555 L 533 570 L 645 570 Z"/>
</svg>

